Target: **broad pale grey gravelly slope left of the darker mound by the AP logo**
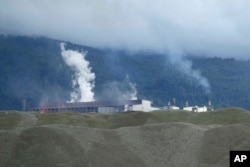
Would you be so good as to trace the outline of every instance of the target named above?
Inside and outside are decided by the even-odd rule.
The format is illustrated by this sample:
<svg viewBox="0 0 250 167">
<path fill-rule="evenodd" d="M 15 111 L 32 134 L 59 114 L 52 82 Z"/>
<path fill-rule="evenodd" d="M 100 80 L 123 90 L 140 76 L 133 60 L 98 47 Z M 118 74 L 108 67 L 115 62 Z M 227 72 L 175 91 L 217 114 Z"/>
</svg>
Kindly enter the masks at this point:
<svg viewBox="0 0 250 167">
<path fill-rule="evenodd" d="M 194 167 L 205 129 L 167 123 L 117 130 L 123 143 L 148 166 Z"/>
</svg>

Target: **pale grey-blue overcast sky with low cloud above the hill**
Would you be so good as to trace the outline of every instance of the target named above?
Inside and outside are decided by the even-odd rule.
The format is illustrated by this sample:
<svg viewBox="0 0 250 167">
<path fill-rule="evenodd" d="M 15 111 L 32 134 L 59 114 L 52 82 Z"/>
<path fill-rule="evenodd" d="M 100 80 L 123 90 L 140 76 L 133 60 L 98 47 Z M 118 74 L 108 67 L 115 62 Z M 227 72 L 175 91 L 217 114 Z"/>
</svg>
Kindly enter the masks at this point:
<svg viewBox="0 0 250 167">
<path fill-rule="evenodd" d="M 250 58 L 249 0 L 1 0 L 0 33 Z"/>
</svg>

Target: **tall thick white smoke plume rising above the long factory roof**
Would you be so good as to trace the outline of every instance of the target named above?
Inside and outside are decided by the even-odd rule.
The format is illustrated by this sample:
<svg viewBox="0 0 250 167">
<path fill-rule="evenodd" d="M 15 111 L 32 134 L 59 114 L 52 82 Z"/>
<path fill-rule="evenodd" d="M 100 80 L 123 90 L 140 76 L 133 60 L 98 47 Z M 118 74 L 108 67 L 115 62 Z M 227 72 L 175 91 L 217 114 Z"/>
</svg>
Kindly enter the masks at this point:
<svg viewBox="0 0 250 167">
<path fill-rule="evenodd" d="M 71 92 L 71 100 L 69 102 L 94 101 L 95 74 L 91 72 L 89 62 L 85 59 L 87 53 L 66 50 L 64 45 L 64 43 L 60 45 L 61 55 L 65 63 L 75 71 L 72 80 L 74 90 Z"/>
</svg>

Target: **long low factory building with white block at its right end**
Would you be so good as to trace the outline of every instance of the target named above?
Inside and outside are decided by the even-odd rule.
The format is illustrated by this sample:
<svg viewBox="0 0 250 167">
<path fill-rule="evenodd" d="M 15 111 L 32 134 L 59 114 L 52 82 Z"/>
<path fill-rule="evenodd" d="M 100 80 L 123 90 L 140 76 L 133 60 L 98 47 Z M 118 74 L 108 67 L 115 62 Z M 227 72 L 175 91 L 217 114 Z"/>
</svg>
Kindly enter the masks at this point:
<svg viewBox="0 0 250 167">
<path fill-rule="evenodd" d="M 151 106 L 149 100 L 125 100 L 125 101 L 93 101 L 93 102 L 76 102 L 63 103 L 60 105 L 48 105 L 34 108 L 32 111 L 40 112 L 57 112 L 57 111 L 76 111 L 76 112 L 98 112 L 114 113 L 124 111 L 144 111 L 149 112 L 156 110 Z"/>
</svg>

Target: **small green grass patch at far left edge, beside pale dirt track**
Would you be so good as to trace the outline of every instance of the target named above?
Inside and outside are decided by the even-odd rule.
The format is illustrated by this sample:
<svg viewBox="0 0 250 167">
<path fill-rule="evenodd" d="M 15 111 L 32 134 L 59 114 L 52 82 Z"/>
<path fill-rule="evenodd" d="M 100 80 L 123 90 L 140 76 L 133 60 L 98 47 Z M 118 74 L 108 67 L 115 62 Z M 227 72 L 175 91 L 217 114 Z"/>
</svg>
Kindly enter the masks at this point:
<svg viewBox="0 0 250 167">
<path fill-rule="evenodd" d="M 20 113 L 15 111 L 0 111 L 0 130 L 14 128 L 22 119 Z"/>
</svg>

